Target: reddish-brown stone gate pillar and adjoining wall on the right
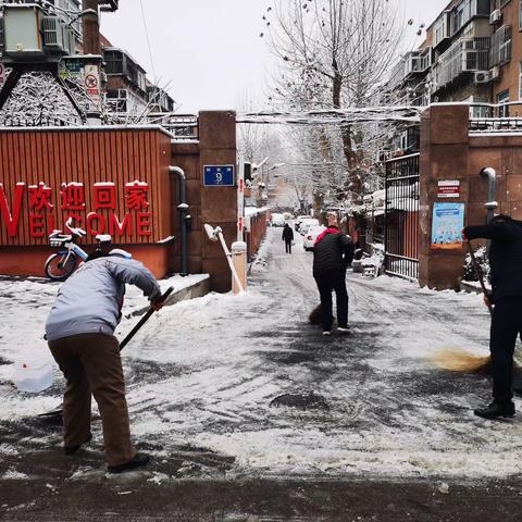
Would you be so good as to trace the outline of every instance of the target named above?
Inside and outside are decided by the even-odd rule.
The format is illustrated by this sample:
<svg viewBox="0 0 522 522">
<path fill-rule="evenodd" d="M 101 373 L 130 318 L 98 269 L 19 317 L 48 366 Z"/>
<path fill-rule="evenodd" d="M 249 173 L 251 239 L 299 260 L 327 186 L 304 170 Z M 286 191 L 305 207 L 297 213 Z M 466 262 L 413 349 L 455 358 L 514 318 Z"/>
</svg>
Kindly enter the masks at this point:
<svg viewBox="0 0 522 522">
<path fill-rule="evenodd" d="M 423 114 L 421 129 L 421 232 L 420 284 L 433 288 L 457 288 L 462 275 L 464 250 L 432 250 L 432 212 L 437 182 L 460 181 L 465 203 L 465 224 L 484 224 L 488 182 L 482 169 L 497 172 L 497 213 L 522 219 L 522 136 L 476 136 L 469 133 L 468 107 L 432 105 Z"/>
</svg>

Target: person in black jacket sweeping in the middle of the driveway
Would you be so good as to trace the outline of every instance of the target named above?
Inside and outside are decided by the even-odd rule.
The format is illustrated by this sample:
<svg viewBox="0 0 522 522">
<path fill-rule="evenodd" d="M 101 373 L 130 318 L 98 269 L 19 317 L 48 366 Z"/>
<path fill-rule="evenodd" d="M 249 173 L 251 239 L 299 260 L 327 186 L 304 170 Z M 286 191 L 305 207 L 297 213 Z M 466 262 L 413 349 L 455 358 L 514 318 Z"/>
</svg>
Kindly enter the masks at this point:
<svg viewBox="0 0 522 522">
<path fill-rule="evenodd" d="M 321 296 L 321 322 L 323 335 L 332 333 L 332 290 L 337 298 L 338 331 L 348 332 L 348 293 L 346 269 L 353 260 L 353 243 L 341 234 L 337 216 L 328 215 L 328 227 L 313 246 L 313 277 Z"/>
</svg>

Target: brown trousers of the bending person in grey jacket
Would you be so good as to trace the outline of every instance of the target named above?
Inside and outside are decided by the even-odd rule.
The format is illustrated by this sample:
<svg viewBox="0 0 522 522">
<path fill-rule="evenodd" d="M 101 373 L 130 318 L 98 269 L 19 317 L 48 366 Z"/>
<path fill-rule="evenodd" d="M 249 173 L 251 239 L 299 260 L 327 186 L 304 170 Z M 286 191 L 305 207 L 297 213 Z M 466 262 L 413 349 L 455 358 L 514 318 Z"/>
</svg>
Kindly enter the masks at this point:
<svg viewBox="0 0 522 522">
<path fill-rule="evenodd" d="M 105 460 L 119 465 L 134 458 L 125 382 L 117 339 L 104 334 L 82 334 L 49 343 L 67 385 L 63 397 L 64 445 L 79 446 L 90 434 L 90 394 L 103 424 Z"/>
</svg>

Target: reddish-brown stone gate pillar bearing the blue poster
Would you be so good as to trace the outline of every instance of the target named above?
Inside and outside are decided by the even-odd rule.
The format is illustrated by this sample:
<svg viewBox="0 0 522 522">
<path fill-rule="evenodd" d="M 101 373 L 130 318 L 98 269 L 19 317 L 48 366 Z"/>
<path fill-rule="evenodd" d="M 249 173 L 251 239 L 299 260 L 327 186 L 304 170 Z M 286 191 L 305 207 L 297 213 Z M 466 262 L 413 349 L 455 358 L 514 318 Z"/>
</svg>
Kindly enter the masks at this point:
<svg viewBox="0 0 522 522">
<path fill-rule="evenodd" d="M 469 108 L 432 105 L 421 121 L 421 207 L 419 283 L 436 289 L 458 288 L 463 249 L 432 250 L 433 203 L 469 199 Z M 460 181 L 459 199 L 437 199 L 439 181 Z"/>
</svg>

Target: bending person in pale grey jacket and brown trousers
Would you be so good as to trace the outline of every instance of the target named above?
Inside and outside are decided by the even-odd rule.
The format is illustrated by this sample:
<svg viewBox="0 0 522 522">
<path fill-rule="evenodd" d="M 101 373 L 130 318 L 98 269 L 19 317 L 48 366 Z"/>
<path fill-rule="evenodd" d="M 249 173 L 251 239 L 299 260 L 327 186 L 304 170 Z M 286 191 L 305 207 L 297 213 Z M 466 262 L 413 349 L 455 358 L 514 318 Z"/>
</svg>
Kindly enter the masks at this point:
<svg viewBox="0 0 522 522">
<path fill-rule="evenodd" d="M 125 284 L 140 288 L 159 310 L 154 276 L 124 250 L 94 254 L 62 285 L 46 324 L 49 348 L 66 387 L 63 400 L 64 451 L 75 453 L 92 438 L 94 395 L 103 425 L 108 471 L 120 473 L 149 462 L 130 442 L 125 383 L 114 330 L 122 318 Z"/>
</svg>

